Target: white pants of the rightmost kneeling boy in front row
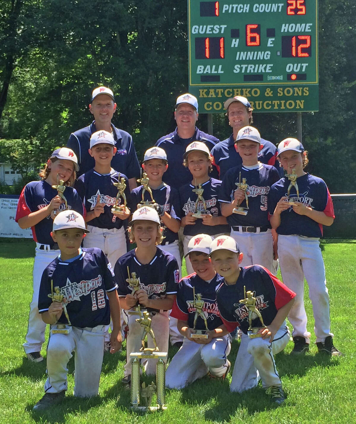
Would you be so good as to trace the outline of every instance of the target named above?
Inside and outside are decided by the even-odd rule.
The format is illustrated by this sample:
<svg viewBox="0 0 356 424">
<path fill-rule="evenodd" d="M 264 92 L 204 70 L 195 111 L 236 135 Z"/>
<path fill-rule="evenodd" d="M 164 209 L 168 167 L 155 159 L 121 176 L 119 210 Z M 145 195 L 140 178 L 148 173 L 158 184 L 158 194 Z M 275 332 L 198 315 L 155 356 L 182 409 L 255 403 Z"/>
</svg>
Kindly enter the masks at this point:
<svg viewBox="0 0 356 424">
<path fill-rule="evenodd" d="M 282 351 L 290 337 L 286 322 L 282 324 L 272 343 L 261 337 L 249 339 L 242 334 L 241 343 L 235 360 L 230 390 L 242 392 L 255 387 L 261 378 L 262 386 L 281 386 L 274 355 Z"/>
</svg>

